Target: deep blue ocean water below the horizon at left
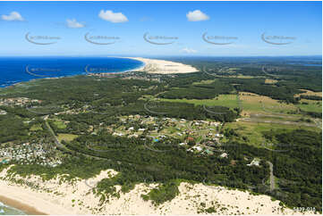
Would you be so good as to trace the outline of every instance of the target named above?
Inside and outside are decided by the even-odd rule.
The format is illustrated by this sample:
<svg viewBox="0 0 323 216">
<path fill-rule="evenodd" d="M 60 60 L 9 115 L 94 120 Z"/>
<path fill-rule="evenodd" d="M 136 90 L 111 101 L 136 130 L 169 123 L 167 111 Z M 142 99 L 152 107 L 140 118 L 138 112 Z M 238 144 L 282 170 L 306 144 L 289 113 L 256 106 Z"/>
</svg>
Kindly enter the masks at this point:
<svg viewBox="0 0 323 216">
<path fill-rule="evenodd" d="M 0 87 L 30 79 L 123 72 L 143 62 L 115 57 L 0 57 Z"/>
</svg>

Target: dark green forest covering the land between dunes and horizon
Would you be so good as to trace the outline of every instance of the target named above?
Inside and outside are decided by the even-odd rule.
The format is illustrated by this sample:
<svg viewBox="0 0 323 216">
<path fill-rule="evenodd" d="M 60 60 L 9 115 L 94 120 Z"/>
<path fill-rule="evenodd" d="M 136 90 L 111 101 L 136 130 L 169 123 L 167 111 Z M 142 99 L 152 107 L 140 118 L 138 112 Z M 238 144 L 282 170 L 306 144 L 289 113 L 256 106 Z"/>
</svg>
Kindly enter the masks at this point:
<svg viewBox="0 0 323 216">
<path fill-rule="evenodd" d="M 211 155 L 188 152 L 179 145 L 182 141 L 176 137 L 168 137 L 154 145 L 153 139 L 145 132 L 139 137 L 115 137 L 111 131 L 103 129 L 122 126 L 120 117 L 137 114 L 223 124 L 242 118 L 243 107 L 238 105 L 234 108 L 213 105 L 206 110 L 203 105 L 166 102 L 163 99 L 208 100 L 220 95 L 239 96 L 240 92 L 268 96 L 285 104 L 300 104 L 302 99 L 322 99 L 320 96 L 295 96 L 304 93 L 301 89 L 322 91 L 321 71 L 317 67 L 291 66 L 284 62 L 263 62 L 252 66 L 250 62 L 223 59 L 177 61 L 191 64 L 200 72 L 174 76 L 149 74 L 145 79 L 136 77 L 146 76 L 142 72 L 111 78 L 75 76 L 38 79 L 2 89 L 2 99 L 28 97 L 41 101 L 41 104 L 1 105 L 0 110 L 7 113 L 0 115 L 0 143 L 21 145 L 23 142 L 49 140 L 55 145 L 47 123 L 55 136 L 77 136 L 71 141 L 62 140 L 64 147 L 55 146 L 62 164 L 56 167 L 17 164 L 9 173 L 25 177 L 35 174 L 43 179 L 69 174 L 64 175 L 62 180 L 72 181 L 75 178 L 89 179 L 98 175 L 100 170 L 117 170 L 118 175 L 103 179 L 93 188 L 101 204 L 119 195 L 116 185 L 121 185 L 122 193 L 126 193 L 142 182 L 160 184 L 147 195 L 141 195 L 142 199 L 152 200 L 156 205 L 163 204 L 178 195 L 178 186 L 185 181 L 248 190 L 254 195 L 270 195 L 291 208 L 309 206 L 322 212 L 321 128 L 301 129 L 294 126 L 293 129 L 271 129 L 268 124 L 268 129 L 262 129 L 260 133 L 268 143 L 276 144 L 272 149 L 250 145 L 248 135 L 239 137 L 241 135 L 234 129 L 220 130 L 225 139 L 222 145 L 213 145 L 215 151 Z M 279 70 L 264 73 L 263 65 L 275 65 Z M 267 83 L 266 79 L 276 79 L 276 82 Z M 70 110 L 73 112 L 66 112 Z M 49 120 L 45 120 L 45 116 Z M 321 112 L 300 109 L 297 118 L 301 117 L 321 118 Z M 68 123 L 62 127 L 56 121 Z M 89 126 L 96 132 L 93 133 L 94 129 L 89 131 Z M 133 126 L 126 124 L 127 128 Z M 32 132 L 35 128 L 38 130 Z M 152 147 L 154 150 L 151 150 Z M 221 157 L 223 153 L 227 153 L 227 157 Z M 254 158 L 261 161 L 259 166 L 247 165 Z M 274 166 L 274 190 L 267 183 L 270 175 L 268 162 Z M 8 165 L 0 164 L 0 170 Z"/>
</svg>

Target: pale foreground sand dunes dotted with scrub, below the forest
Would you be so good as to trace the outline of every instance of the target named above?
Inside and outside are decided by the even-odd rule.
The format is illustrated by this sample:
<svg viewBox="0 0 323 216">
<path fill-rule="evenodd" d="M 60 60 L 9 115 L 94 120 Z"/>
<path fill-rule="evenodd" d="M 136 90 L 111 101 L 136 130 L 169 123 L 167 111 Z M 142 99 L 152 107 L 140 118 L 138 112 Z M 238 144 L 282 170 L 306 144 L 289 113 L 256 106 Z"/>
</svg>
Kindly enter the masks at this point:
<svg viewBox="0 0 323 216">
<path fill-rule="evenodd" d="M 2 177 L 5 172 L 3 170 L 0 173 Z M 94 178 L 78 179 L 74 184 L 59 184 L 58 179 L 55 179 L 47 184 L 40 183 L 43 189 L 24 187 L 1 179 L 0 201 L 30 214 L 196 215 L 201 210 L 201 203 L 205 205 L 204 209 L 217 206 L 217 212 L 212 214 L 302 214 L 283 208 L 279 201 L 272 201 L 268 195 L 251 195 L 225 187 L 184 182 L 179 187 L 179 195 L 157 207 L 140 196 L 157 187 L 157 184 L 138 184 L 129 193 L 120 193 L 120 198 L 112 197 L 110 202 L 99 206 L 99 197 L 92 193 L 92 187 L 101 179 L 111 178 L 116 173 L 115 170 L 103 170 Z M 27 180 L 41 182 L 38 177 Z M 46 188 L 51 192 L 46 192 Z M 116 186 L 117 191 L 120 189 L 120 186 Z"/>
</svg>

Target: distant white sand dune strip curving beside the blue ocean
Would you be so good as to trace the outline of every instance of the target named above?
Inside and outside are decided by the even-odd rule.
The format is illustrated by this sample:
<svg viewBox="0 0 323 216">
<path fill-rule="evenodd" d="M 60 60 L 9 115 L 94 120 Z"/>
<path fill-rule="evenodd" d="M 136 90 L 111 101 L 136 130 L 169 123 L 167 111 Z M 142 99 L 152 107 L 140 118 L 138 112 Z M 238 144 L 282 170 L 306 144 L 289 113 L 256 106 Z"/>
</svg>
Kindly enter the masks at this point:
<svg viewBox="0 0 323 216">
<path fill-rule="evenodd" d="M 132 71 L 145 71 L 148 73 L 157 73 L 157 74 L 191 73 L 191 72 L 199 71 L 196 68 L 192 67 L 191 65 L 187 65 L 179 62 L 148 59 L 148 58 L 141 58 L 141 57 L 129 57 L 129 58 L 138 60 L 140 62 L 144 62 L 144 66 Z"/>
</svg>

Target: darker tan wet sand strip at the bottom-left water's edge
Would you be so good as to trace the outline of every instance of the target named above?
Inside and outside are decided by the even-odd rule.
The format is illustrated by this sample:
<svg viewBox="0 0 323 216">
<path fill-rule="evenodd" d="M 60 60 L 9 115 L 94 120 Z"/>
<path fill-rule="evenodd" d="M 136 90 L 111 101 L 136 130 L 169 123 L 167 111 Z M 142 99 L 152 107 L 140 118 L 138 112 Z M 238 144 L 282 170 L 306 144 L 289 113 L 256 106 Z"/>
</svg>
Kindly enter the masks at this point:
<svg viewBox="0 0 323 216">
<path fill-rule="evenodd" d="M 21 212 L 24 212 L 25 214 L 29 215 L 48 215 L 44 212 L 39 212 L 35 207 L 21 203 L 20 201 L 17 201 L 15 199 L 9 198 L 4 195 L 0 195 L 0 202 L 8 207 L 12 207 L 14 209 L 17 209 Z"/>
</svg>

